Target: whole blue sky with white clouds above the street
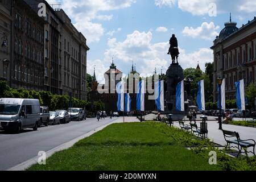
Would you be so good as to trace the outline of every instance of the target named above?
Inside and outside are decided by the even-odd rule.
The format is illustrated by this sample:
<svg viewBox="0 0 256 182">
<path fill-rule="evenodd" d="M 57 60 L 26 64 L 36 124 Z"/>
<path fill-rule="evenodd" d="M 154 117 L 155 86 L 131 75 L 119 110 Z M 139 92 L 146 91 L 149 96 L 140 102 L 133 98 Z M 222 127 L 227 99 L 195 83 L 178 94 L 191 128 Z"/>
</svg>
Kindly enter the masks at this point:
<svg viewBox="0 0 256 182">
<path fill-rule="evenodd" d="M 114 64 L 124 74 L 134 61 L 142 76 L 154 69 L 165 73 L 171 64 L 167 55 L 172 34 L 179 43 L 183 69 L 213 62 L 213 40 L 224 23 L 237 27 L 256 16 L 256 0 L 47 0 L 61 4 L 90 48 L 87 72 L 96 67 L 98 82 Z"/>
</svg>

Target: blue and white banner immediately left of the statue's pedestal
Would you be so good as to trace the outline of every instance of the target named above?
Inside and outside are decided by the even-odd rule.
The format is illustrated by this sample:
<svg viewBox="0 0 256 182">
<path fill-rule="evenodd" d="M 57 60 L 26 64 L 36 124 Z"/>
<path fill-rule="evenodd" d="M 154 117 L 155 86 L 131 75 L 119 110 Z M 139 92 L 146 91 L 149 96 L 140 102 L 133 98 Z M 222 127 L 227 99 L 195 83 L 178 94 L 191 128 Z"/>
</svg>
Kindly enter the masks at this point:
<svg viewBox="0 0 256 182">
<path fill-rule="evenodd" d="M 164 81 L 155 82 L 155 104 L 158 111 L 164 111 Z"/>
</svg>

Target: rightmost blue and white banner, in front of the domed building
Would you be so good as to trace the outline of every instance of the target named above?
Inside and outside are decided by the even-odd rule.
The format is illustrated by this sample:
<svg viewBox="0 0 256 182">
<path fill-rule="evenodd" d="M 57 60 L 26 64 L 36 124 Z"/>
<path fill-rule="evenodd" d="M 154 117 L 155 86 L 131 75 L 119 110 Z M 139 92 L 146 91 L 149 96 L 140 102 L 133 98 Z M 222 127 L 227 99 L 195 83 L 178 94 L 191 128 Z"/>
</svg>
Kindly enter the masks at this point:
<svg viewBox="0 0 256 182">
<path fill-rule="evenodd" d="M 245 110 L 245 83 L 243 80 L 236 82 L 237 88 L 237 109 Z"/>
</svg>

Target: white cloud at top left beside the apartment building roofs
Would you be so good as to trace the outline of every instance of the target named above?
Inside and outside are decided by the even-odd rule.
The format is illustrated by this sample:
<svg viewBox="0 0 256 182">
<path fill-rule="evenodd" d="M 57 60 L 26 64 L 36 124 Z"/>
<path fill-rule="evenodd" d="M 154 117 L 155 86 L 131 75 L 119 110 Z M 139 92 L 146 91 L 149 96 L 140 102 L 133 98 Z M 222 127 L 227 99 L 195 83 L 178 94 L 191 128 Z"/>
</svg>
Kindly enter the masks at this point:
<svg viewBox="0 0 256 182">
<path fill-rule="evenodd" d="M 57 1 L 57 0 L 47 0 Z M 61 8 L 74 21 L 75 27 L 85 35 L 87 42 L 98 42 L 104 35 L 104 27 L 94 20 L 111 20 L 113 15 L 106 15 L 112 10 L 130 7 L 136 0 L 63 0 Z"/>
</svg>

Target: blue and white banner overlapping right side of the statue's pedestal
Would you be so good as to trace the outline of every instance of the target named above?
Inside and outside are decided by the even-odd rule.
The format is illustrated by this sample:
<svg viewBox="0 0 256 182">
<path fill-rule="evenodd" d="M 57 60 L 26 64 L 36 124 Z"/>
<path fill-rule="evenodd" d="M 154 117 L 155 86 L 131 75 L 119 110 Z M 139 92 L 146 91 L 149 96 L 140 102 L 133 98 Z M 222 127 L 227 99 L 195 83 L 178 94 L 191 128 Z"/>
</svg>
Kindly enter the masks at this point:
<svg viewBox="0 0 256 182">
<path fill-rule="evenodd" d="M 179 82 L 176 87 L 176 110 L 185 111 L 184 104 L 184 80 Z"/>
</svg>

